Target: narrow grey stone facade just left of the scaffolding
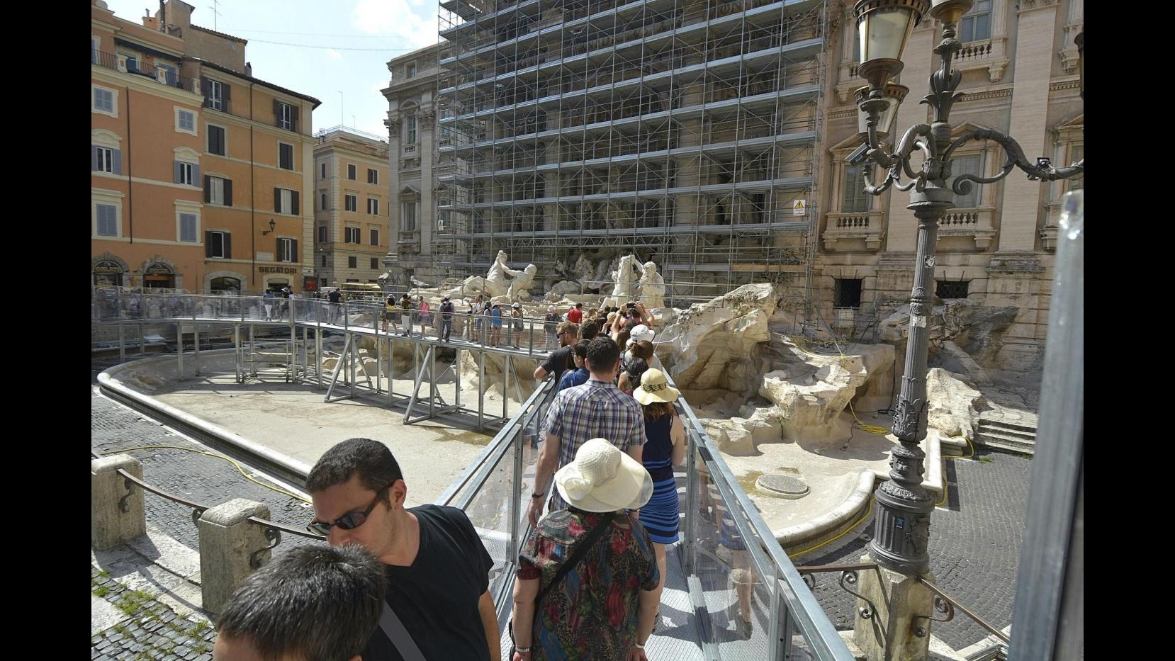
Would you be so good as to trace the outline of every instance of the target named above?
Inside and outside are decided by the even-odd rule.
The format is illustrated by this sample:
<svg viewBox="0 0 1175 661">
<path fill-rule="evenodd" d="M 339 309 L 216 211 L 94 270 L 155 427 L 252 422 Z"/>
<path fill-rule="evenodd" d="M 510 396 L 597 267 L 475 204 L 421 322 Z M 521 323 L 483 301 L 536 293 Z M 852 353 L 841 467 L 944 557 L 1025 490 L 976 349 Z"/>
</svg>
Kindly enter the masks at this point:
<svg viewBox="0 0 1175 661">
<path fill-rule="evenodd" d="M 436 187 L 437 148 L 451 142 L 451 129 L 438 129 L 436 122 L 437 47 L 390 60 L 388 72 L 388 87 L 381 92 L 388 100 L 384 126 L 390 139 L 389 284 L 407 285 L 410 278 L 439 284 L 451 267 L 452 250 L 437 238 L 451 236 L 452 228 L 437 217 L 438 202 L 446 202 Z"/>
</svg>

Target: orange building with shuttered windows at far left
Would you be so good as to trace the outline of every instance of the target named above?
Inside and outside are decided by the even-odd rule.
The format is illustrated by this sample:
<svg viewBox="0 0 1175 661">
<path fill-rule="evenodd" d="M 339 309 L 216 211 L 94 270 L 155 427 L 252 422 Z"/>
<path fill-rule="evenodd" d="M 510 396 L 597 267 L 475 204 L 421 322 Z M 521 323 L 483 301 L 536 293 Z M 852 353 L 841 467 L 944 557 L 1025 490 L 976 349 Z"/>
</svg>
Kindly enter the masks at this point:
<svg viewBox="0 0 1175 661">
<path fill-rule="evenodd" d="M 251 75 L 246 41 L 179 0 L 90 5 L 90 284 L 315 289 L 318 101 Z"/>
</svg>

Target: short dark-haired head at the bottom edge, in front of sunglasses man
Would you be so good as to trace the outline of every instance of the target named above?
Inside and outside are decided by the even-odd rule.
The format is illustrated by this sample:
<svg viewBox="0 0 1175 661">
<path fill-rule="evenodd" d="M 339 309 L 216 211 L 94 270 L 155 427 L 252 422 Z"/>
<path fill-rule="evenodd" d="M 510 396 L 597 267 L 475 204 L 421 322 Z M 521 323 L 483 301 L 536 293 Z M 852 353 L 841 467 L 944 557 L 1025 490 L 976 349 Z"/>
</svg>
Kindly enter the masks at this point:
<svg viewBox="0 0 1175 661">
<path fill-rule="evenodd" d="M 236 588 L 213 661 L 354 661 L 380 626 L 387 581 L 358 545 L 302 546 Z"/>
</svg>

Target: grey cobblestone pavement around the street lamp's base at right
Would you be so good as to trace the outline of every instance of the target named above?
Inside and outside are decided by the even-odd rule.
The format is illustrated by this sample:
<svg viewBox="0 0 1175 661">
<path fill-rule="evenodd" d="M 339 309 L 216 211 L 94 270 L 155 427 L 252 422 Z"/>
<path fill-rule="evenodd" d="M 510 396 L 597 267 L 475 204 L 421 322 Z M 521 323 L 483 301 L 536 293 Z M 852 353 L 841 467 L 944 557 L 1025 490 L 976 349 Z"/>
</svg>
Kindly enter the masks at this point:
<svg viewBox="0 0 1175 661">
<path fill-rule="evenodd" d="M 1012 623 L 1030 473 L 1032 461 L 1015 454 L 979 450 L 971 460 L 948 459 L 947 501 L 931 515 L 931 572 L 939 588 L 998 629 Z M 797 564 L 857 562 L 873 534 L 871 520 L 847 545 Z M 817 599 L 833 623 L 852 628 L 855 603 L 840 588 L 840 574 L 815 579 Z M 989 635 L 958 609 L 952 621 L 934 622 L 931 633 L 955 649 Z"/>
</svg>

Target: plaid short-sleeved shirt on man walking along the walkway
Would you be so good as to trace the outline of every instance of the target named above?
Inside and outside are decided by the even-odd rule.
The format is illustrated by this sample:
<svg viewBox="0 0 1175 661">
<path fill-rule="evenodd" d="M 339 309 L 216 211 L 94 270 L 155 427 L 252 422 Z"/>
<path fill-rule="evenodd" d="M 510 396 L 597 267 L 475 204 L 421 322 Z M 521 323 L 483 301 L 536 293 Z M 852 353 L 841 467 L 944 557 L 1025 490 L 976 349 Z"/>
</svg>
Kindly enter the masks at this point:
<svg viewBox="0 0 1175 661">
<path fill-rule="evenodd" d="M 579 446 L 593 438 L 607 439 L 622 452 L 645 444 L 644 410 L 612 382 L 589 379 L 583 385 L 559 391 L 546 410 L 543 429 L 559 437 L 560 468 L 573 461 Z M 552 488 L 551 511 L 566 506 Z"/>
</svg>

